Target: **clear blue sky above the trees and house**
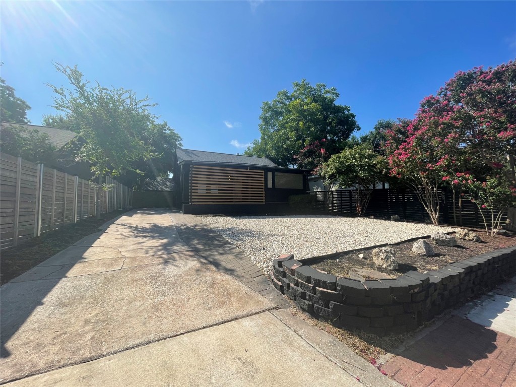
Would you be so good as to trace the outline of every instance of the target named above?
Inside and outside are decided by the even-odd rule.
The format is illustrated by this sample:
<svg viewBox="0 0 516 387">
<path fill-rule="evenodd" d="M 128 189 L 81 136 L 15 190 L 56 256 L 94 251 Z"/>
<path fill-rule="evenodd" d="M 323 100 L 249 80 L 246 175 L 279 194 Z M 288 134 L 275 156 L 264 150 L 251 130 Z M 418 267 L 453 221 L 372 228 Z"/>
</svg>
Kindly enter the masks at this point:
<svg viewBox="0 0 516 387">
<path fill-rule="evenodd" d="M 516 2 L 9 2 L 1 75 L 40 124 L 52 61 L 148 94 L 185 148 L 237 153 L 263 101 L 292 82 L 336 87 L 361 133 L 412 117 L 458 70 L 516 58 Z M 361 134 L 360 133 L 360 134 Z"/>
</svg>

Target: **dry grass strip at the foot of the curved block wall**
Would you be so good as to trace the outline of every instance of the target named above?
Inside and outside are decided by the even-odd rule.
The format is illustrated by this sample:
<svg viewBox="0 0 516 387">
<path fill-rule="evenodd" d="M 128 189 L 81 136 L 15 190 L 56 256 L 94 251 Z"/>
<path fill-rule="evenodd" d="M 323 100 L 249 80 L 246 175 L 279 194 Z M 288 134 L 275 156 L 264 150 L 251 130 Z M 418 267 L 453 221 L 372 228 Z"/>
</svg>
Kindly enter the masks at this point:
<svg viewBox="0 0 516 387">
<path fill-rule="evenodd" d="M 362 331 L 347 331 L 342 328 L 334 327 L 331 322 L 324 319 L 315 319 L 296 307 L 291 307 L 291 313 L 294 316 L 307 321 L 310 325 L 335 336 L 338 341 L 346 344 L 353 352 L 367 361 L 370 359 L 378 359 L 386 352 L 393 352 L 402 343 L 404 343 L 411 333 L 401 334 L 397 336 L 379 337 L 375 334 L 365 333 Z"/>
</svg>

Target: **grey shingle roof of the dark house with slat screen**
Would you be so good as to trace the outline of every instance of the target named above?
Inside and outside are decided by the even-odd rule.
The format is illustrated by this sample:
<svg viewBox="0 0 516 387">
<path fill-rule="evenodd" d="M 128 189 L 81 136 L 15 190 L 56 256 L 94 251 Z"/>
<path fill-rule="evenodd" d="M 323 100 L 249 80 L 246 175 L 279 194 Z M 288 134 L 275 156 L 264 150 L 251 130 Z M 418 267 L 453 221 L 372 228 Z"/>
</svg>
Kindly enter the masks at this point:
<svg viewBox="0 0 516 387">
<path fill-rule="evenodd" d="M 240 164 L 257 165 L 261 167 L 277 167 L 266 157 L 243 156 L 237 154 L 195 151 L 192 149 L 175 150 L 178 156 L 178 163 L 200 162 L 200 163 L 221 163 L 221 164 Z"/>
</svg>

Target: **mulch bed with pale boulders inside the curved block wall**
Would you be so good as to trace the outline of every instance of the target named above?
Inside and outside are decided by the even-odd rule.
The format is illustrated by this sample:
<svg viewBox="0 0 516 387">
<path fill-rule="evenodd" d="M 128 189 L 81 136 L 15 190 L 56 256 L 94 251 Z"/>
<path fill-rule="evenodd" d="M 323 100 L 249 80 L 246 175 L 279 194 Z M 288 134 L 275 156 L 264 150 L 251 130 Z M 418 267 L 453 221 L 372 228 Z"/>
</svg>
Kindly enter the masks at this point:
<svg viewBox="0 0 516 387">
<path fill-rule="evenodd" d="M 514 234 L 497 234 L 492 237 L 487 236 L 485 231 L 482 234 L 482 230 L 473 231 L 482 238 L 482 242 L 457 239 L 458 246 L 456 247 L 436 246 L 432 243 L 433 250 L 436 252 L 434 256 L 422 256 L 412 252 L 414 240 L 390 245 L 389 247 L 396 250 L 396 260 L 399 262 L 399 268 L 395 271 L 376 267 L 373 262 L 374 248 L 343 252 L 331 258 L 311 260 L 308 264 L 318 270 L 340 277 L 351 277 L 359 280 L 395 278 L 407 271 L 425 272 L 435 270 L 474 255 L 516 245 L 516 235 Z M 430 239 L 428 240 L 430 241 Z M 362 258 L 359 257 L 360 254 L 363 254 Z"/>
</svg>

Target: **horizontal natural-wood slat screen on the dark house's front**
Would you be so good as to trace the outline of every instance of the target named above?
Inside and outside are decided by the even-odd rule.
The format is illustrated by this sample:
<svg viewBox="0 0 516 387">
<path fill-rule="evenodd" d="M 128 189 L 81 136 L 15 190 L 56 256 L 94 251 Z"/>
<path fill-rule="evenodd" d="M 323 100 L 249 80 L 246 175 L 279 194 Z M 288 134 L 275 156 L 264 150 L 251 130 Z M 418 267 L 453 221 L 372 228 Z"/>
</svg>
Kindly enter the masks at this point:
<svg viewBox="0 0 516 387">
<path fill-rule="evenodd" d="M 264 171 L 193 166 L 191 204 L 265 203 Z"/>
</svg>

